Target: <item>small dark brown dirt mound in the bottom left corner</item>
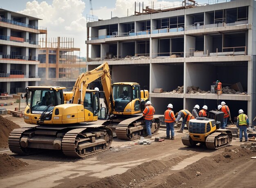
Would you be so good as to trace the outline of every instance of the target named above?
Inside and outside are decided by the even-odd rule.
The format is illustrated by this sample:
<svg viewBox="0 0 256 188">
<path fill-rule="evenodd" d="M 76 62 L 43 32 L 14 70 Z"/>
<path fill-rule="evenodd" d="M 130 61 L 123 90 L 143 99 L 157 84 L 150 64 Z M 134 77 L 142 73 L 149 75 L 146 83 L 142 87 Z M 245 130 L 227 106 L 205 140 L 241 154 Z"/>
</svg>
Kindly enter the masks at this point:
<svg viewBox="0 0 256 188">
<path fill-rule="evenodd" d="M 6 153 L 0 154 L 0 175 L 7 174 L 14 171 L 20 167 L 27 166 L 28 164 L 7 155 Z"/>
</svg>

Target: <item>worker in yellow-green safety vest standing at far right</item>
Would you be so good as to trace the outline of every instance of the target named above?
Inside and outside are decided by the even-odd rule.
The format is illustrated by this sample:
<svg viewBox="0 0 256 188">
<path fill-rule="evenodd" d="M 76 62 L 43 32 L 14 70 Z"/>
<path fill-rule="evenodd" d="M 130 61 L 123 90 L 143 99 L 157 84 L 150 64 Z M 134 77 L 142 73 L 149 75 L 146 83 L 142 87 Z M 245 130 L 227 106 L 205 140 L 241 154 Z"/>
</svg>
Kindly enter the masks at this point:
<svg viewBox="0 0 256 188">
<path fill-rule="evenodd" d="M 238 111 L 238 116 L 237 116 L 237 121 L 236 121 L 236 125 L 237 127 L 239 126 L 239 130 L 240 130 L 240 142 L 243 141 L 243 132 L 245 135 L 245 142 L 248 141 L 248 136 L 247 136 L 247 128 L 249 127 L 249 120 L 246 114 L 244 114 L 244 111 L 242 109 L 240 109 Z"/>
</svg>

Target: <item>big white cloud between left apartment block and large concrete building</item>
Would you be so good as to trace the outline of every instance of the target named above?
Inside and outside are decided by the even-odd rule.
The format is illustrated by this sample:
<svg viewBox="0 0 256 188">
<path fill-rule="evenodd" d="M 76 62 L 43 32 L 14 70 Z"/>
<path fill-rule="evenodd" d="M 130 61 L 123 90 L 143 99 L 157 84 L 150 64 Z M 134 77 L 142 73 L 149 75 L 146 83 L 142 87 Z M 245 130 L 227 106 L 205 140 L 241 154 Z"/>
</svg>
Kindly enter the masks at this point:
<svg viewBox="0 0 256 188">
<path fill-rule="evenodd" d="M 47 27 L 47 37 L 74 38 L 74 47 L 81 48 L 81 56 L 86 56 L 84 9 L 85 2 L 82 0 L 53 0 L 52 4 L 34 0 L 27 2 L 26 9 L 19 13 L 42 19 L 39 26 Z"/>
</svg>

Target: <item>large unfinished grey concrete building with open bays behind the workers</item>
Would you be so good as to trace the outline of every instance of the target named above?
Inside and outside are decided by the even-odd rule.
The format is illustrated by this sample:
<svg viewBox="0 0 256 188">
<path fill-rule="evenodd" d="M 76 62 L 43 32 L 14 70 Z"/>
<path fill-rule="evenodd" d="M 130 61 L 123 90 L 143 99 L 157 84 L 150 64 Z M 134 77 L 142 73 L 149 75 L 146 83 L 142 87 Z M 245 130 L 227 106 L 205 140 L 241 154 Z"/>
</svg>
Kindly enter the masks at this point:
<svg viewBox="0 0 256 188">
<path fill-rule="evenodd" d="M 88 70 L 108 61 L 113 82 L 146 86 L 156 114 L 168 103 L 177 112 L 195 104 L 216 109 L 225 101 L 232 120 L 243 109 L 256 125 L 256 1 L 185 2 L 88 23 Z M 247 94 L 188 93 L 191 86 L 209 91 L 217 80 L 222 87 L 241 83 Z M 179 86 L 183 93 L 170 93 Z M 166 92 L 154 93 L 155 88 Z"/>
</svg>

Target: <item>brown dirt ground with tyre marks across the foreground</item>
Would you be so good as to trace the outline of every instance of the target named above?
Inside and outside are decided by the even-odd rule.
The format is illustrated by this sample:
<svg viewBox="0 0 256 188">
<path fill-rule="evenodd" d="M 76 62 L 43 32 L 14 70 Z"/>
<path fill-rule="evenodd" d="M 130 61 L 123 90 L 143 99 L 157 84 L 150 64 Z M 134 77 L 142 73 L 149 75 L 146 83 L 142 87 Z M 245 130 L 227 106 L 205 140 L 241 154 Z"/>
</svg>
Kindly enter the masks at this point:
<svg viewBox="0 0 256 188">
<path fill-rule="evenodd" d="M 15 105 L 7 107 L 14 109 Z M 31 127 L 23 118 L 4 117 L 20 127 Z M 135 145 L 136 140 L 115 138 L 108 151 L 83 159 L 65 157 L 57 151 L 30 156 L 5 151 L 7 155 L 1 154 L 2 158 L 13 157 L 21 161 L 21 166 L 16 164 L 17 168 L 11 171 L 0 171 L 0 187 L 255 187 L 256 160 L 251 157 L 256 156 L 256 152 L 241 148 L 238 138 L 232 140 L 231 146 L 209 150 L 184 146 L 181 141 L 184 133 L 175 132 L 175 140 L 164 142 L 154 142 L 153 137 L 150 145 Z M 155 136 L 165 134 L 164 130 L 159 130 Z M 3 150 L 6 149 L 0 151 Z"/>
</svg>

